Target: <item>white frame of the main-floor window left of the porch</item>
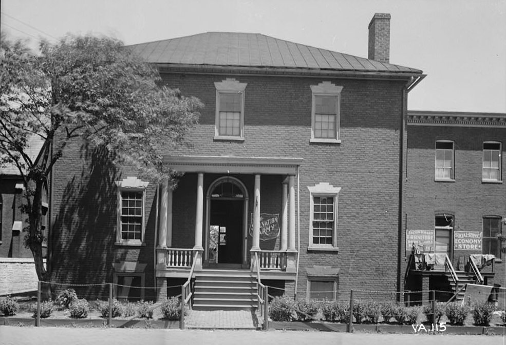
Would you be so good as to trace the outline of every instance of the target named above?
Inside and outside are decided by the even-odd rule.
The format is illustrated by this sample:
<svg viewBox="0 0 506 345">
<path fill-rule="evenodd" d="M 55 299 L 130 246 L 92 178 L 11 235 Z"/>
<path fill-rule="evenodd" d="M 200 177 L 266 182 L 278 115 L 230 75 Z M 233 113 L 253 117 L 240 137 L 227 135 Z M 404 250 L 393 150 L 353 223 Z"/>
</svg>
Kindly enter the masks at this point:
<svg viewBox="0 0 506 345">
<path fill-rule="evenodd" d="M 117 224 L 116 224 L 116 245 L 122 246 L 140 246 L 144 243 L 144 231 L 146 223 L 146 188 L 149 182 L 142 181 L 135 176 L 129 176 L 116 181 L 118 186 L 118 206 L 117 206 Z M 121 238 L 121 206 L 123 192 L 141 192 L 142 193 L 142 224 L 141 239 L 122 239 Z"/>
</svg>

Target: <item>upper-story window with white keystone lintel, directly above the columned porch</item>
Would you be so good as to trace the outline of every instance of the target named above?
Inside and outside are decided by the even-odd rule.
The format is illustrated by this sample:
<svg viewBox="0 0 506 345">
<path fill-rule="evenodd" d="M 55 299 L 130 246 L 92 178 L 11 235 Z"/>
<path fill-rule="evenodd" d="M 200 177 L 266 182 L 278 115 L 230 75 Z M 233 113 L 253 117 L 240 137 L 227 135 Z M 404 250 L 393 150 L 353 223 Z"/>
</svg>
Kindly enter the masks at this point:
<svg viewBox="0 0 506 345">
<path fill-rule="evenodd" d="M 248 84 L 227 78 L 216 87 L 215 139 L 244 140 L 244 90 Z"/>
</svg>

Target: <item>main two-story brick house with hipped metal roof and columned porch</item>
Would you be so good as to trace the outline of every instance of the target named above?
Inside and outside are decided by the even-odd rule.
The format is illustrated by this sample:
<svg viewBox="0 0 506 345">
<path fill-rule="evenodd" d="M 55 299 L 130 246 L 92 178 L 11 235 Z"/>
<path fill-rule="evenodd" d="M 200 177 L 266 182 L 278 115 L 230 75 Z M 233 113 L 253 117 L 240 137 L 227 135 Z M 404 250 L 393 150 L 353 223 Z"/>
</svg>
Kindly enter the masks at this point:
<svg viewBox="0 0 506 345">
<path fill-rule="evenodd" d="M 389 63 L 389 23 L 372 18 L 368 59 L 249 33 L 129 46 L 205 108 L 165 153 L 175 184 L 67 148 L 53 176 L 52 280 L 161 297 L 193 266 L 201 308 L 251 303 L 210 286 L 248 291 L 257 270 L 280 289 L 270 293 L 297 298 L 402 289 L 404 118 L 424 75 Z"/>
</svg>

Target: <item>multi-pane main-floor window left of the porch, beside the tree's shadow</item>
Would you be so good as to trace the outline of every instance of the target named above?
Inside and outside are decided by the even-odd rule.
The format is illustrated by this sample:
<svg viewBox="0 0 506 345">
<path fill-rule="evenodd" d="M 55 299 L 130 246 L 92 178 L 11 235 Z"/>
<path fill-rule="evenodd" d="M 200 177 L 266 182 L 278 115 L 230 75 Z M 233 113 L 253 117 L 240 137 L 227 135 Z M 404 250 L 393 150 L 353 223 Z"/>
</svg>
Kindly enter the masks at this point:
<svg viewBox="0 0 506 345">
<path fill-rule="evenodd" d="M 117 244 L 140 245 L 144 242 L 145 190 L 148 183 L 137 177 L 127 177 L 116 181 L 118 186 Z"/>
</svg>

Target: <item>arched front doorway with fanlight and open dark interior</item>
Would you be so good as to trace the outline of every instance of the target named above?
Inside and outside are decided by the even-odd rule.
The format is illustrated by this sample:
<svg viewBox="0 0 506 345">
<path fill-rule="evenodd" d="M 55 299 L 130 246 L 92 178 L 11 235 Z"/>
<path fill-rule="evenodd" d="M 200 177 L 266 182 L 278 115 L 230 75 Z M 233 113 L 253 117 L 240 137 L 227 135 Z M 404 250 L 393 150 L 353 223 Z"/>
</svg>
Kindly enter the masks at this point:
<svg viewBox="0 0 506 345">
<path fill-rule="evenodd" d="M 213 264 L 246 262 L 248 191 L 235 177 L 217 178 L 207 193 L 205 260 Z"/>
</svg>

